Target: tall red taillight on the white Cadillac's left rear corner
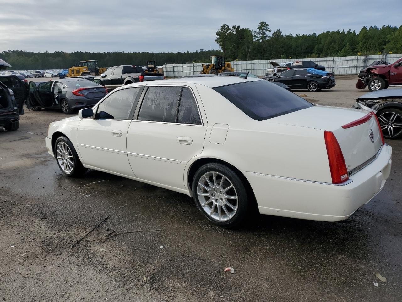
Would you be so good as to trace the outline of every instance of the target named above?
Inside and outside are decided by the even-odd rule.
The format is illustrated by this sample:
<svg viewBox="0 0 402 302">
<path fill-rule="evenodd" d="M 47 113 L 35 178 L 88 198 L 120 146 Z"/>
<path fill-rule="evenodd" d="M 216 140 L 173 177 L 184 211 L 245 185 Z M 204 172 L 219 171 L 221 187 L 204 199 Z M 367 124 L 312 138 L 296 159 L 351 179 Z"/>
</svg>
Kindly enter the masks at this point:
<svg viewBox="0 0 402 302">
<path fill-rule="evenodd" d="M 324 132 L 325 146 L 327 149 L 329 169 L 333 184 L 339 184 L 349 179 L 346 169 L 345 159 L 342 150 L 340 150 L 335 135 L 330 131 Z"/>
</svg>

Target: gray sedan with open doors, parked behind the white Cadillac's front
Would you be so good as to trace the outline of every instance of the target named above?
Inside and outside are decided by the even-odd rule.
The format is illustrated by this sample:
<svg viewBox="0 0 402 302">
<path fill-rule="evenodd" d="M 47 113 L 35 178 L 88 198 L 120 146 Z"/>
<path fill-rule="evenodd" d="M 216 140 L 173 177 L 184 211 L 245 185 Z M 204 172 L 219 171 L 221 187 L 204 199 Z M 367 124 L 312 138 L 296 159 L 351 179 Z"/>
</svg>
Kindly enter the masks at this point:
<svg viewBox="0 0 402 302">
<path fill-rule="evenodd" d="M 72 114 L 76 108 L 92 107 L 106 94 L 105 87 L 86 79 L 29 82 L 27 106 L 33 111 L 55 108 Z"/>
</svg>

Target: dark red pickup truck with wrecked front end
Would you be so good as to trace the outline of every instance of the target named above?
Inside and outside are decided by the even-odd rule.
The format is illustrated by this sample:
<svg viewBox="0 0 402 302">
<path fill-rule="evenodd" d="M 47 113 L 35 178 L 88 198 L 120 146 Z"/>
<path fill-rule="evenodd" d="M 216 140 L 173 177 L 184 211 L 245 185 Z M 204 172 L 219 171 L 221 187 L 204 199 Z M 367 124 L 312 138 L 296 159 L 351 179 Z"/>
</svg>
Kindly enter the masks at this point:
<svg viewBox="0 0 402 302">
<path fill-rule="evenodd" d="M 369 66 L 359 74 L 361 79 L 357 80 L 356 88 L 369 91 L 387 89 L 390 85 L 402 85 L 402 58 L 388 65 Z"/>
</svg>

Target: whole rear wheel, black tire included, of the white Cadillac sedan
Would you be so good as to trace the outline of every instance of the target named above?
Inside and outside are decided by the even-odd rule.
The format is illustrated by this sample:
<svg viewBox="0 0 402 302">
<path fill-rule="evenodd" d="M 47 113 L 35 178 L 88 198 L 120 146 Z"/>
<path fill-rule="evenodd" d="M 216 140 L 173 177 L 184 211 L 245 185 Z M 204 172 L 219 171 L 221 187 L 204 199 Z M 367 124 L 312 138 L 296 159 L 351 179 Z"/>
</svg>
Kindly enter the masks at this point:
<svg viewBox="0 0 402 302">
<path fill-rule="evenodd" d="M 243 183 L 240 176 L 226 165 L 221 163 L 202 165 L 193 179 L 195 204 L 212 223 L 225 228 L 236 227 L 247 217 L 251 200 Z M 226 192 L 222 188 L 226 189 Z M 236 196 L 237 199 L 225 198 L 224 194 Z"/>
</svg>

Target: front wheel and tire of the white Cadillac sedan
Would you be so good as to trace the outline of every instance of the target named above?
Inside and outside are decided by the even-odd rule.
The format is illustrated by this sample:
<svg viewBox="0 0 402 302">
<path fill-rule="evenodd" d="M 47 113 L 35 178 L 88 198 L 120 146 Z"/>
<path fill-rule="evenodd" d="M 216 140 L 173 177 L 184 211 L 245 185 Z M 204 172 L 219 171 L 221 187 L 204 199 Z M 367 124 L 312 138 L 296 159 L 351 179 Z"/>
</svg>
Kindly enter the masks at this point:
<svg viewBox="0 0 402 302">
<path fill-rule="evenodd" d="M 67 137 L 59 137 L 53 150 L 59 169 L 67 176 L 81 176 L 88 170 L 82 165 L 73 144 Z"/>
</svg>

